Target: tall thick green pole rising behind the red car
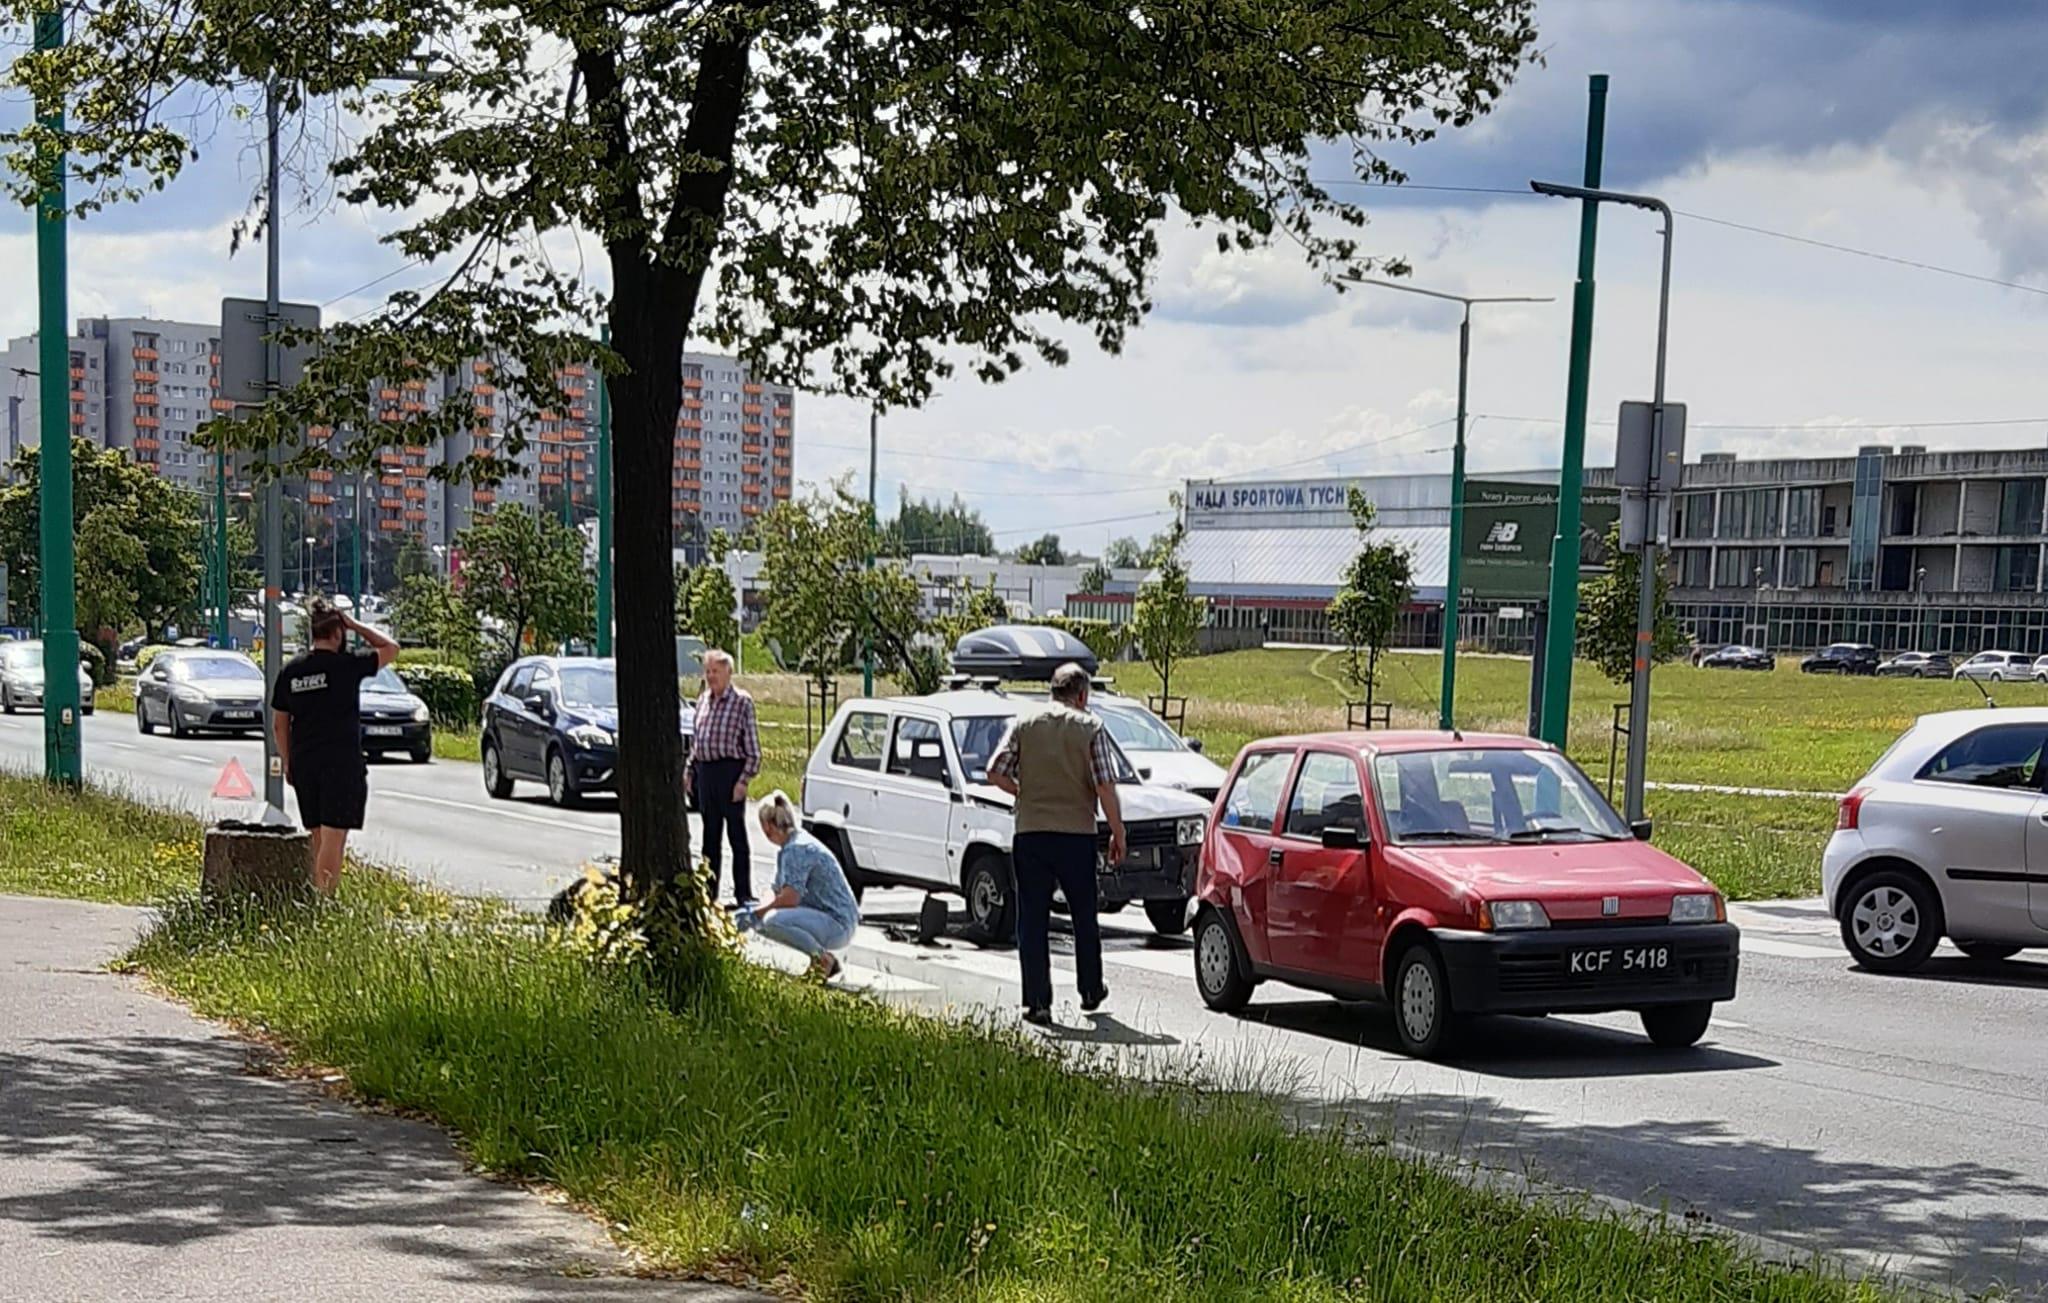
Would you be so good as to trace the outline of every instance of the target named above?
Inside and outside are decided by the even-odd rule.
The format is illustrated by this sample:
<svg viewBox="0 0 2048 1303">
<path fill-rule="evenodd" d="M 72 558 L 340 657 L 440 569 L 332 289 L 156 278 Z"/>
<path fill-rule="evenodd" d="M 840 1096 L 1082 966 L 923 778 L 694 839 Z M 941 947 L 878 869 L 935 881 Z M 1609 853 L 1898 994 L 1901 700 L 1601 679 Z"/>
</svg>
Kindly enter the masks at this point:
<svg viewBox="0 0 2048 1303">
<path fill-rule="evenodd" d="M 1585 107 L 1585 188 L 1599 186 L 1608 133 L 1608 74 L 1595 72 Z M 1556 471 L 1556 537 L 1550 541 L 1548 645 L 1544 647 L 1542 740 L 1571 733 L 1571 664 L 1579 635 L 1579 500 L 1585 490 L 1585 391 L 1593 375 L 1593 244 L 1599 203 L 1579 207 L 1579 279 L 1571 287 L 1571 375 L 1565 385 L 1565 453 Z"/>
</svg>

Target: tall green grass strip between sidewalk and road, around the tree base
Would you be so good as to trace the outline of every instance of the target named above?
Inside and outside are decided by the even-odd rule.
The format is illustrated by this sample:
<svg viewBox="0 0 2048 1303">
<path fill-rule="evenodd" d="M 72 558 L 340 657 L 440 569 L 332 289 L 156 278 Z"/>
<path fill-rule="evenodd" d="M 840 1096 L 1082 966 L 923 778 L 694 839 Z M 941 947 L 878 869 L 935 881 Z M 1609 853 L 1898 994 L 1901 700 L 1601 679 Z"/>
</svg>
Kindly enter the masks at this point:
<svg viewBox="0 0 2048 1303">
<path fill-rule="evenodd" d="M 635 967 L 381 875 L 291 916 L 174 906 L 133 959 L 657 1266 L 815 1299 L 1884 1297 L 1473 1190 L 1348 1127 L 1292 1129 L 1255 1090 L 1069 1071 L 741 963 L 672 1008 Z"/>
</svg>

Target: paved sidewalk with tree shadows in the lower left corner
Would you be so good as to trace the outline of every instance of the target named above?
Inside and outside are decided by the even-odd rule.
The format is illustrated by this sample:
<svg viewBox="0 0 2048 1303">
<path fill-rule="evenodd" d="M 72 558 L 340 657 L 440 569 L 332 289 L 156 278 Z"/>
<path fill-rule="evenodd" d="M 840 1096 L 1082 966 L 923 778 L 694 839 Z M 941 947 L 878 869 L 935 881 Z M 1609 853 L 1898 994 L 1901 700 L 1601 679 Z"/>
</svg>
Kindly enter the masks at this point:
<svg viewBox="0 0 2048 1303">
<path fill-rule="evenodd" d="M 141 910 L 0 895 L 0 1297 L 743 1303 L 643 1280 L 602 1229 L 465 1172 L 434 1127 L 252 1074 L 100 971 Z"/>
</svg>

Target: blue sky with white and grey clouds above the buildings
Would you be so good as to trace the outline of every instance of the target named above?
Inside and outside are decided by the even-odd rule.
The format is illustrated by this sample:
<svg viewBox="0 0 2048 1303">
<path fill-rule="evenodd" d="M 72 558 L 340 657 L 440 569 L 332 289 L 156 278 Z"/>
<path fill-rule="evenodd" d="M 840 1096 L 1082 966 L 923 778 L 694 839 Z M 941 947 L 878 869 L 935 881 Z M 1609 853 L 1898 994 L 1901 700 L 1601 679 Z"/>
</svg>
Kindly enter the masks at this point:
<svg viewBox="0 0 2048 1303">
<path fill-rule="evenodd" d="M 1610 74 L 1606 182 L 1686 213 L 2048 287 L 2048 6 L 2028 0 L 1548 0 L 1542 66 L 1501 109 L 1399 164 L 1419 184 L 1520 191 L 1577 180 L 1585 82 Z M 0 107 L 0 115 L 18 104 Z M 164 197 L 74 236 L 74 316 L 207 318 L 260 285 L 227 256 L 256 158 L 229 135 Z M 1327 176 L 1343 176 L 1331 152 Z M 1475 467 L 1554 465 L 1577 215 L 1518 195 L 1366 193 L 1368 248 L 1413 281 L 1556 295 L 1475 324 Z M 348 313 L 399 260 L 352 213 L 295 211 L 289 297 Z M 29 266 L 0 215 L 0 258 Z M 1657 240 L 1602 221 L 1593 412 L 1649 389 Z M 424 275 L 418 275 L 424 279 Z M 399 275 L 381 289 L 408 285 Z M 381 291 L 379 291 L 381 293 Z M 1157 524 L 1180 475 L 1448 467 L 1456 318 L 1411 295 L 1323 287 L 1292 254 L 1219 256 L 1174 229 L 1157 316 L 1108 359 L 1006 385 L 948 385 L 883 422 L 883 496 L 969 496 L 1004 541 L 1042 529 L 1100 547 Z M 2048 295 L 1999 289 L 1679 219 L 1671 395 L 1694 453 L 1841 453 L 1860 443 L 2042 445 Z M 33 328 L 33 285 L 0 281 L 0 334 Z M 1921 422 L 2013 420 L 2019 426 Z M 1720 428 L 1716 428 L 1720 426 Z M 1782 426 L 1782 428 L 1729 428 Z M 866 416 L 799 408 L 799 475 L 864 467 Z M 1591 457 L 1612 455 L 1604 426 Z"/>
</svg>

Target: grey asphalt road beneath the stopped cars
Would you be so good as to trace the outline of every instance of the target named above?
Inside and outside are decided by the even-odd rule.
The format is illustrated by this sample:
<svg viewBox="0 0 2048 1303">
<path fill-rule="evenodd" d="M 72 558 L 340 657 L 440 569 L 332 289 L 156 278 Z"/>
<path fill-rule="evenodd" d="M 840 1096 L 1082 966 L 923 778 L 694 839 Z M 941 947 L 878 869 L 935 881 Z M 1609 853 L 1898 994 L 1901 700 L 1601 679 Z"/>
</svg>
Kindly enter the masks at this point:
<svg viewBox="0 0 2048 1303">
<path fill-rule="evenodd" d="M 84 746 L 96 781 L 197 809 L 229 754 L 252 774 L 260 762 L 252 742 L 139 738 L 125 715 L 86 721 Z M 0 764 L 39 756 L 39 719 L 0 719 Z M 489 801 L 471 764 L 375 766 L 371 789 L 362 850 L 463 891 L 532 903 L 618 846 L 616 813 L 555 811 L 539 789 Z M 1014 1006 L 1012 955 L 885 934 L 918 899 L 868 895 L 852 979 L 930 1008 Z M 1065 1004 L 1051 1035 L 1133 1071 L 1255 1078 L 1309 1119 L 1364 1115 L 1485 1168 L 2048 1297 L 2048 1037 L 2034 1035 L 2048 963 L 1987 969 L 1944 949 L 1915 977 L 1874 977 L 1849 967 L 1819 901 L 1735 920 L 1741 996 L 1688 1053 L 1653 1051 L 1630 1016 L 1495 1018 L 1450 1063 L 1419 1063 L 1382 1010 L 1276 985 L 1241 1016 L 1210 1014 L 1186 942 L 1133 912 L 1106 920 L 1108 1014 Z M 1071 971 L 1057 977 L 1071 1000 Z"/>
</svg>

